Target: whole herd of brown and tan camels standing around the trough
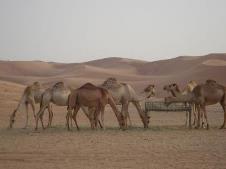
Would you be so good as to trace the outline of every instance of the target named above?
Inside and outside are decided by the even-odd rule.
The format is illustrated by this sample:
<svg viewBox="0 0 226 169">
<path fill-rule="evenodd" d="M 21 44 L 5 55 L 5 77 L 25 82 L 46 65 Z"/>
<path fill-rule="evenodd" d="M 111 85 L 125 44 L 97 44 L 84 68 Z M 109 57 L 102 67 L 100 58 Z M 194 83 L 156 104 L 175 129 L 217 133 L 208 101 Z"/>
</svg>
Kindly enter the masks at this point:
<svg viewBox="0 0 226 169">
<path fill-rule="evenodd" d="M 204 127 L 209 129 L 208 118 L 206 114 L 206 106 L 220 103 L 224 110 L 224 122 L 221 129 L 226 124 L 226 88 L 218 84 L 214 80 L 206 80 L 203 84 L 197 84 L 195 81 L 190 81 L 184 90 L 180 90 L 176 83 L 165 85 L 163 88 L 169 92 L 171 96 L 165 98 L 165 104 L 169 105 L 173 102 L 182 102 L 190 104 L 192 107 L 192 114 L 194 116 L 193 125 L 195 128 Z M 143 92 L 145 98 L 155 96 L 155 85 L 148 85 Z M 144 98 L 144 99 L 145 99 Z M 13 127 L 15 122 L 16 112 L 21 107 L 26 108 L 25 126 L 28 126 L 28 106 L 30 105 L 35 119 L 35 130 L 38 129 L 38 122 L 41 121 L 42 128 L 43 115 L 45 110 L 48 110 L 49 121 L 47 127 L 51 127 L 53 112 L 52 104 L 57 106 L 67 107 L 66 127 L 71 129 L 72 120 L 75 122 L 77 130 L 79 126 L 76 120 L 77 113 L 81 108 L 84 114 L 90 121 L 91 128 L 95 129 L 98 126 L 105 128 L 104 111 L 107 104 L 115 113 L 118 120 L 119 127 L 126 129 L 131 126 L 131 119 L 128 112 L 129 104 L 132 103 L 139 113 L 144 128 L 148 128 L 150 116 L 141 108 L 141 99 L 138 97 L 131 85 L 120 83 L 116 78 L 108 78 L 101 85 L 96 86 L 91 83 L 86 83 L 77 89 L 71 89 L 65 86 L 63 82 L 57 82 L 52 87 L 44 89 L 39 82 L 34 82 L 25 88 L 22 97 L 10 115 L 9 128 Z M 40 109 L 35 113 L 35 104 L 40 104 Z M 118 110 L 117 105 L 121 105 L 121 111 Z M 187 118 L 187 117 L 186 117 Z M 202 125 L 200 121 L 202 119 Z M 186 124 L 187 125 L 187 119 Z"/>
</svg>

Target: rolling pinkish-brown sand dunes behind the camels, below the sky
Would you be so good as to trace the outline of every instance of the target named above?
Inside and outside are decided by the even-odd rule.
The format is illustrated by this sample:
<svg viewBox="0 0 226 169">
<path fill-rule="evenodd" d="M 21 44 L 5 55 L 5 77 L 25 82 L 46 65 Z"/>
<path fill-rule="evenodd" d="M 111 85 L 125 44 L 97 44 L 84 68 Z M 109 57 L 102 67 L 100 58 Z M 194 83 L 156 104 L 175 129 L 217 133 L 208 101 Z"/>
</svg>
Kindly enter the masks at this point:
<svg viewBox="0 0 226 169">
<path fill-rule="evenodd" d="M 149 83 L 162 86 L 177 82 L 184 86 L 189 80 L 199 83 L 215 79 L 226 84 L 226 54 L 206 56 L 180 56 L 174 59 L 145 62 L 125 58 L 105 58 L 84 63 L 54 63 L 42 61 L 0 61 L 0 80 L 18 84 L 40 81 L 51 85 L 65 81 L 79 86 L 87 81 L 102 83 L 107 77 L 132 84 L 142 90 Z"/>
</svg>

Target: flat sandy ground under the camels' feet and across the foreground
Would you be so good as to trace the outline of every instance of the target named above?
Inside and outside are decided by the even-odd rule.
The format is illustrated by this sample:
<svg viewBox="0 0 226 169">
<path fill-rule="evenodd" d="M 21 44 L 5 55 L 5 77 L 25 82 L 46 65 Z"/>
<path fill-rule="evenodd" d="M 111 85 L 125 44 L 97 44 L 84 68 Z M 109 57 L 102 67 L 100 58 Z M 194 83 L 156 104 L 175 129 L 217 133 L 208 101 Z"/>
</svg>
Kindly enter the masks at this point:
<svg viewBox="0 0 226 169">
<path fill-rule="evenodd" d="M 20 112 L 9 130 L 9 114 L 16 107 L 13 97 L 18 99 L 21 89 L 15 89 L 16 94 L 5 91 L 0 95 L 0 168 L 226 168 L 226 129 L 218 129 L 223 122 L 220 106 L 208 108 L 209 131 L 186 129 L 183 112 L 151 112 L 150 128 L 144 130 L 133 106 L 133 127 L 126 131 L 118 129 L 115 116 L 107 108 L 105 131 L 92 131 L 80 112 L 81 130 L 68 132 L 66 109 L 56 106 L 52 128 L 34 132 L 30 113 L 28 129 L 21 129 L 25 114 Z"/>
</svg>

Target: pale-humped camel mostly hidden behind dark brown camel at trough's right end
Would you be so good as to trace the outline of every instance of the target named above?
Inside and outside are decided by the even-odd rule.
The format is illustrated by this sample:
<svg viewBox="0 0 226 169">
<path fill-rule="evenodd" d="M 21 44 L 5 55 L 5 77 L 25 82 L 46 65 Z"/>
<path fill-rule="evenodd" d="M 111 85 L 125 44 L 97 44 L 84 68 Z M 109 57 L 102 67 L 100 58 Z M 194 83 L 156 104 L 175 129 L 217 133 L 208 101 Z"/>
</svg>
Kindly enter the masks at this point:
<svg viewBox="0 0 226 169">
<path fill-rule="evenodd" d="M 193 89 L 197 86 L 198 84 L 195 81 L 190 81 L 185 89 L 183 91 L 180 91 L 179 86 L 176 83 L 170 84 L 170 85 L 165 85 L 163 87 L 163 90 L 166 90 L 167 92 L 171 93 L 173 97 L 178 97 L 180 95 L 186 95 L 190 92 L 193 91 Z M 193 125 L 196 124 L 197 121 L 197 108 L 196 105 L 191 103 L 191 108 L 192 108 L 192 113 L 194 115 L 194 121 Z M 185 127 L 187 126 L 188 122 L 188 112 L 186 112 L 186 120 L 185 120 Z"/>
</svg>

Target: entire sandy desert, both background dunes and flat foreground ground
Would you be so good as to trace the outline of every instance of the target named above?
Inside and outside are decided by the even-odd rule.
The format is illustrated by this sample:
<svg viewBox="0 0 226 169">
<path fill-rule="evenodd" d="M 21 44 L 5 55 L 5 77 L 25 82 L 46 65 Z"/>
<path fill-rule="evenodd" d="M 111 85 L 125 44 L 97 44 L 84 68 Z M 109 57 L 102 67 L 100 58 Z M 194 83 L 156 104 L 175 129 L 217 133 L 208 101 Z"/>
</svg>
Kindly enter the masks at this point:
<svg viewBox="0 0 226 169">
<path fill-rule="evenodd" d="M 0 168 L 224 169 L 226 129 L 218 129 L 223 122 L 223 110 L 219 105 L 207 108 L 209 131 L 185 128 L 184 112 L 149 112 L 150 127 L 143 129 L 132 105 L 129 112 L 133 126 L 126 131 L 119 130 L 113 112 L 107 107 L 105 131 L 91 130 L 87 118 L 80 111 L 78 123 L 81 130 L 73 128 L 68 132 L 65 128 L 66 108 L 57 106 L 53 106 L 52 128 L 34 131 L 34 118 L 29 109 L 27 129 L 22 129 L 25 123 L 23 111 L 17 114 L 14 128 L 7 129 L 9 115 L 25 85 L 34 80 L 41 81 L 46 87 L 59 80 L 78 87 L 87 81 L 99 84 L 106 77 L 114 76 L 132 84 L 138 93 L 149 83 L 157 84 L 157 97 L 163 97 L 166 93 L 162 86 L 172 81 L 183 86 L 190 79 L 204 82 L 204 79 L 213 78 L 226 84 L 226 66 L 219 60 L 226 60 L 226 55 L 212 54 L 192 59 L 179 57 L 157 63 L 121 58 L 82 64 L 1 61 Z M 45 124 L 47 119 L 46 112 Z"/>
</svg>

